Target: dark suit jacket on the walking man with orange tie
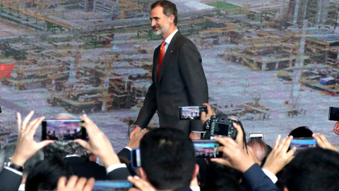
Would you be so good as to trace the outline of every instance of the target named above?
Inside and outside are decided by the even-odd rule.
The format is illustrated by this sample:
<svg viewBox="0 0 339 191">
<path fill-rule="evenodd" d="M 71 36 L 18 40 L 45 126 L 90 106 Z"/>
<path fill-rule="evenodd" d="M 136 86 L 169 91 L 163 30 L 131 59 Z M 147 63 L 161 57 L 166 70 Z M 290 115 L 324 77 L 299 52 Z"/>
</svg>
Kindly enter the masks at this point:
<svg viewBox="0 0 339 191">
<path fill-rule="evenodd" d="M 173 127 L 187 133 L 203 132 L 200 120 L 179 120 L 180 106 L 208 103 L 208 85 L 200 53 L 193 42 L 178 31 L 167 47 L 158 79 L 159 51 L 160 46 L 154 51 L 153 83 L 148 88 L 136 125 L 147 127 L 157 110 L 160 127 Z"/>
</svg>

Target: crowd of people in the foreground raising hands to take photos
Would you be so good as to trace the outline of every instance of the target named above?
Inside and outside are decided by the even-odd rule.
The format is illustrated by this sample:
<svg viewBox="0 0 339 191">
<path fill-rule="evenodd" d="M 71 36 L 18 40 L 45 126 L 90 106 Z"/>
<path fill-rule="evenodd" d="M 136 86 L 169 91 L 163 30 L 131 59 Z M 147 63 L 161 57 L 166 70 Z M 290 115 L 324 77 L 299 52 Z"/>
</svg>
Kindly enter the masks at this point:
<svg viewBox="0 0 339 191">
<path fill-rule="evenodd" d="M 33 114 L 23 120 L 17 114 L 18 139 L 0 150 L 0 190 L 93 190 L 100 180 L 128 180 L 131 191 L 339 189 L 338 150 L 307 127 L 288 137 L 278 135 L 270 147 L 261 139 L 244 141 L 246 127 L 234 123 L 236 139 L 214 137 L 222 158 L 196 158 L 189 134 L 174 128 L 141 129 L 116 153 L 86 115 L 80 119 L 88 140 L 37 142 L 33 137 L 44 117 L 31 120 Z M 213 114 L 208 105 L 201 124 Z M 296 148 L 290 149 L 294 137 L 311 137 L 318 146 L 295 155 Z M 140 149 L 140 168 L 131 168 L 133 148 Z M 104 166 L 96 163 L 97 157 Z"/>
</svg>

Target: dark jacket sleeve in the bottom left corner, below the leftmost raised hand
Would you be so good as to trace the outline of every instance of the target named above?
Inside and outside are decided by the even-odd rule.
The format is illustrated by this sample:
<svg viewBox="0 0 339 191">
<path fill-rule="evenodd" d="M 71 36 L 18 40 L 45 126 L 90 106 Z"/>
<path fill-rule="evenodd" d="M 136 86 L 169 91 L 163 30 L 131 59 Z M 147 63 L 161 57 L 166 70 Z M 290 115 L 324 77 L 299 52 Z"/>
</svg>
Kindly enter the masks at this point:
<svg viewBox="0 0 339 191">
<path fill-rule="evenodd" d="M 0 190 L 18 191 L 22 180 L 23 176 L 4 168 L 0 173 Z"/>
</svg>

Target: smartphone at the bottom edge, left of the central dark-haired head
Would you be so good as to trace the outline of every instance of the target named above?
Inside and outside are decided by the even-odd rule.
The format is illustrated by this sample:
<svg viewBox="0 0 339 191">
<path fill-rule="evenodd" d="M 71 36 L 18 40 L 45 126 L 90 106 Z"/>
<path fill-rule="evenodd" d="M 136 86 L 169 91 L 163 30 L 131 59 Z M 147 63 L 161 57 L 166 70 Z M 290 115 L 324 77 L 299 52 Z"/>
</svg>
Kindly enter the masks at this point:
<svg viewBox="0 0 339 191">
<path fill-rule="evenodd" d="M 95 181 L 93 191 L 127 191 L 133 184 L 128 180 Z"/>
</svg>

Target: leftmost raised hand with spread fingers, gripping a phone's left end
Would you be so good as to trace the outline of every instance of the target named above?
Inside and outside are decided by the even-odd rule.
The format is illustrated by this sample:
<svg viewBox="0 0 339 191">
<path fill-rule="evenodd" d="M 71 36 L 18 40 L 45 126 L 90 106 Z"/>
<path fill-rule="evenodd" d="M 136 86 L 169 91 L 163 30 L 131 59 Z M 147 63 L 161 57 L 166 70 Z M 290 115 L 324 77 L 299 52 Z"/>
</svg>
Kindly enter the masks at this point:
<svg viewBox="0 0 339 191">
<path fill-rule="evenodd" d="M 30 122 L 30 118 L 34 115 L 34 112 L 31 111 L 21 122 L 20 112 L 17 112 L 17 115 L 18 140 L 16 142 L 16 151 L 14 152 L 11 161 L 18 166 L 23 166 L 28 158 L 30 158 L 44 146 L 47 146 L 47 144 L 51 144 L 54 141 L 45 140 L 38 143 L 33 139 L 35 131 L 37 130 L 37 127 L 39 127 L 42 120 L 44 120 L 44 117 L 38 117 Z"/>
</svg>

